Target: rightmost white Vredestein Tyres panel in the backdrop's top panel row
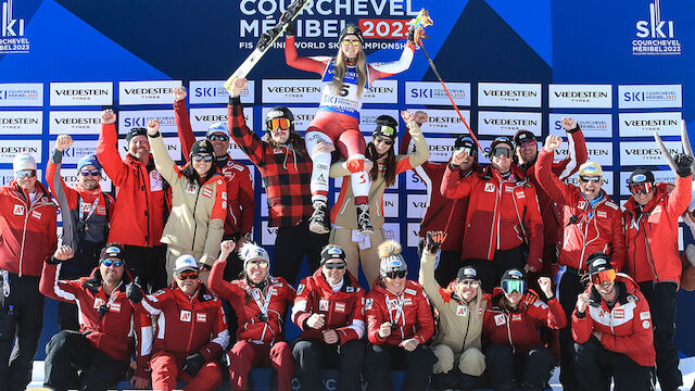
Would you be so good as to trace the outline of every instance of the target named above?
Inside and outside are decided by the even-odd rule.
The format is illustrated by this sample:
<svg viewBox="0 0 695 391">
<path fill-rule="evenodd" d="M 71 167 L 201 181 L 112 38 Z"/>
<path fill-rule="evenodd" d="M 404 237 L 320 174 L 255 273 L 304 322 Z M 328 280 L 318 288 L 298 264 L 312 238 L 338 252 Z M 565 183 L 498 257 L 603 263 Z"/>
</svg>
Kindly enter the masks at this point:
<svg viewBox="0 0 695 391">
<path fill-rule="evenodd" d="M 610 109 L 610 85 L 549 85 L 551 108 Z"/>
</svg>

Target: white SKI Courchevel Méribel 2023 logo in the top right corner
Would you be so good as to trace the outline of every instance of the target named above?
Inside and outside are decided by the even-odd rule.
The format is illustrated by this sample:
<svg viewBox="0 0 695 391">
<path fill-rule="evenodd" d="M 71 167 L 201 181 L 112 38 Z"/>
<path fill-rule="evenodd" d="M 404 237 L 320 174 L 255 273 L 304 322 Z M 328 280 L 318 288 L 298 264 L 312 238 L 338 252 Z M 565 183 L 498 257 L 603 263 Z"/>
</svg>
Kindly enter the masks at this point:
<svg viewBox="0 0 695 391">
<path fill-rule="evenodd" d="M 681 54 L 681 41 L 675 38 L 673 21 L 661 20 L 661 0 L 649 3 L 649 20 L 635 23 L 635 36 L 632 40 L 633 55 Z"/>
</svg>

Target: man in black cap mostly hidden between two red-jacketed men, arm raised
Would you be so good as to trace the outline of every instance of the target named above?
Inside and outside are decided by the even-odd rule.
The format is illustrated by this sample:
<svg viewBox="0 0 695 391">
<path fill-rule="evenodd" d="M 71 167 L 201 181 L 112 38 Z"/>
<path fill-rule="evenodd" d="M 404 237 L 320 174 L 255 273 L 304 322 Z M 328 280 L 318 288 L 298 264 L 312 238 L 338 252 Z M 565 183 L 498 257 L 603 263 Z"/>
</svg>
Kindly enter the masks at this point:
<svg viewBox="0 0 695 391">
<path fill-rule="evenodd" d="M 577 173 L 579 166 L 586 162 L 587 153 L 584 134 L 577 122 L 569 117 L 563 117 L 560 125 L 567 134 L 568 154 L 561 161 L 553 162 L 551 169 L 560 180 L 565 180 Z M 563 211 L 553 204 L 553 200 L 539 182 L 538 167 L 535 166 L 539 148 L 535 136 L 530 130 L 521 129 L 514 135 L 514 143 L 516 146 L 514 162 L 526 172 L 539 197 L 539 206 L 543 218 L 543 275 L 549 275 L 549 267 L 556 263 L 559 253 L 557 243 L 563 237 Z"/>
</svg>

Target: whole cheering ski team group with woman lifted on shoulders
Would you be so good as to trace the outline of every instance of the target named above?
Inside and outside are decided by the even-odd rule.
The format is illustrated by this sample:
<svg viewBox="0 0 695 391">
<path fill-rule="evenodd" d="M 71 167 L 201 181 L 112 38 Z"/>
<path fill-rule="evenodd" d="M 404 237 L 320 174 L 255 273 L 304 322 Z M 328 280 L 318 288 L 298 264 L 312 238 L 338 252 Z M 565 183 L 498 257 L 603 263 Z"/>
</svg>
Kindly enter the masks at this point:
<svg viewBox="0 0 695 391">
<path fill-rule="evenodd" d="M 679 217 L 695 227 L 691 156 L 673 157 L 675 184 L 635 169 L 621 210 L 571 118 L 561 121 L 567 157 L 555 160 L 563 138 L 548 136 L 539 151 L 535 135 L 520 130 L 496 138 L 483 167 L 468 136 L 452 140 L 448 162 L 428 162 L 427 115 L 404 111 L 396 153 L 399 121 L 379 116 L 367 143 L 359 110 L 375 80 L 408 67 L 413 38 L 399 61 L 368 64 L 354 26 L 334 58 L 299 58 L 293 35 L 288 64 L 324 81 L 305 137 L 285 106 L 268 111 L 263 136 L 252 131 L 239 98 L 248 83 L 238 79 L 228 124 L 202 140 L 186 89 L 175 88 L 182 166 L 157 119 L 127 130 L 122 159 L 111 110 L 73 187 L 61 175 L 70 136 L 56 139 L 48 187 L 34 157 L 14 157 L 15 178 L 0 188 L 0 383 L 28 384 L 49 297 L 61 302 L 61 331 L 46 346 L 53 390 L 104 390 L 129 370 L 136 388 L 215 390 L 224 367 L 244 390 L 257 365 L 277 371 L 279 390 L 292 376 L 321 390 L 325 367 L 339 369 L 339 390 L 363 379 L 390 390 L 396 368 L 403 390 L 542 390 L 558 364 L 568 390 L 611 381 L 652 390 L 655 375 L 661 390 L 682 386 L 675 294 L 695 288 L 695 247 L 681 256 L 677 239 Z M 231 140 L 263 178 L 278 229 L 273 260 L 252 240 L 253 180 L 228 154 Z M 417 281 L 382 229 L 384 189 L 410 169 L 428 191 Z M 115 199 L 101 190 L 102 171 Z M 567 184 L 576 173 L 578 185 Z M 329 177 L 343 178 L 330 213 Z M 304 256 L 315 272 L 298 282 Z M 301 329 L 292 343 L 288 320 Z"/>
</svg>

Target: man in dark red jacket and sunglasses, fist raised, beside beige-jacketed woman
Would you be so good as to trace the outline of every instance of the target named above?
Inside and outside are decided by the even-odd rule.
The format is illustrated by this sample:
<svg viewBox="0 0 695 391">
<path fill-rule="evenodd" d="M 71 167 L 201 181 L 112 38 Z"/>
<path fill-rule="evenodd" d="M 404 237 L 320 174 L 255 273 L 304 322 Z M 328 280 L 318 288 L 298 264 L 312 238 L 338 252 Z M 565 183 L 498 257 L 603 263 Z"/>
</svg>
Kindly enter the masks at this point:
<svg viewBox="0 0 695 391">
<path fill-rule="evenodd" d="M 457 171 L 468 152 L 455 151 L 442 179 L 446 198 L 469 197 L 466 227 L 472 229 L 464 232 L 462 258 L 476 267 L 485 292 L 492 292 L 508 268 L 539 272 L 543 266 L 543 220 L 535 188 L 511 169 L 511 148 L 508 138 L 497 137 L 490 146 L 492 164 L 465 178 Z"/>
</svg>

